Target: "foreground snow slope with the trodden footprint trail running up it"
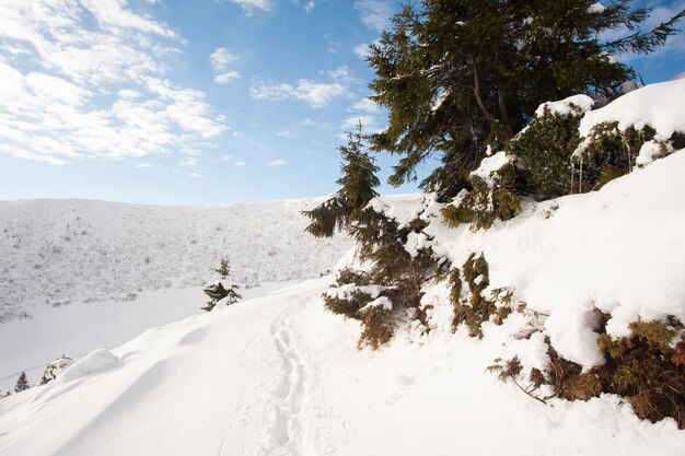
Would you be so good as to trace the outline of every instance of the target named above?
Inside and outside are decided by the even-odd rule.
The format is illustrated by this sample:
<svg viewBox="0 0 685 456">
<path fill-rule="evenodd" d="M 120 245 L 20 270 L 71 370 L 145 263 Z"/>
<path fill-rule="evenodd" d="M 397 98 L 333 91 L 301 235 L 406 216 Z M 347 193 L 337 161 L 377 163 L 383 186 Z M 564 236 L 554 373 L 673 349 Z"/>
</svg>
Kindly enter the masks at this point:
<svg viewBox="0 0 685 456">
<path fill-rule="evenodd" d="M 327 279 L 90 353 L 0 400 L 0 454 L 675 455 L 673 421 L 615 397 L 543 406 L 484 372 L 500 350 L 464 334 L 353 349 L 322 309 Z"/>
</svg>

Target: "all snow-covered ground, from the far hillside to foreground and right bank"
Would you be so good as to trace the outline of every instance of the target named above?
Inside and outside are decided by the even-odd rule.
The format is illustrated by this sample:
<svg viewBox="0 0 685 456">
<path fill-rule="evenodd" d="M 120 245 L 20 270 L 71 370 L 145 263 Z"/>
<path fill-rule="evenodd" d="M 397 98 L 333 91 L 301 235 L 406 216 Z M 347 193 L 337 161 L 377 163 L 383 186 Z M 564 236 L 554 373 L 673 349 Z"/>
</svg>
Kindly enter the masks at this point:
<svg viewBox="0 0 685 456">
<path fill-rule="evenodd" d="M 514 354 L 544 369 L 545 337 L 584 367 L 602 362 L 595 308 L 615 337 L 640 318 L 685 320 L 685 150 L 672 152 L 599 191 L 529 201 L 487 231 L 445 227 L 431 196 L 374 200 L 400 224 L 430 221 L 409 252 L 430 246 L 456 266 L 484 254 L 490 288 L 511 288 L 527 312 L 485 323 L 483 339 L 452 334 L 450 290 L 432 283 L 430 331 L 408 321 L 376 352 L 356 350 L 358 324 L 324 311 L 330 276 L 294 280 L 329 269 L 350 244 L 302 232 L 298 213 L 315 201 L 0 203 L 11 318 L 0 366 L 33 367 L 49 349 L 45 365 L 65 351 L 53 344 L 82 355 L 49 384 L 0 399 L 0 455 L 685 454 L 673 419 L 641 421 L 627 399 L 545 405 L 486 372 Z M 355 264 L 351 254 L 338 265 Z M 236 281 L 262 285 L 198 312 L 198 285 L 225 255 Z M 33 318 L 12 318 L 24 312 Z M 516 337 L 531 313 L 535 332 Z"/>
</svg>

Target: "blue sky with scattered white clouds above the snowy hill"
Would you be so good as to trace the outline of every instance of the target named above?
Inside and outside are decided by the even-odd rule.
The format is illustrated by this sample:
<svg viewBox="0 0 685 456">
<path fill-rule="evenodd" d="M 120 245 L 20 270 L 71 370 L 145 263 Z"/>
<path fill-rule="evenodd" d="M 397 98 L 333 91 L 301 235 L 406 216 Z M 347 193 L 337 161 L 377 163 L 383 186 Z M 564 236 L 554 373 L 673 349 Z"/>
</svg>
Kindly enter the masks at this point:
<svg viewBox="0 0 685 456">
<path fill-rule="evenodd" d="M 213 204 L 326 195 L 390 0 L 0 1 L 0 199 Z M 642 1 L 663 19 L 685 1 Z M 683 34 L 646 82 L 685 70 Z M 394 159 L 379 156 L 387 175 Z M 383 187 L 382 191 L 413 191 Z"/>
</svg>

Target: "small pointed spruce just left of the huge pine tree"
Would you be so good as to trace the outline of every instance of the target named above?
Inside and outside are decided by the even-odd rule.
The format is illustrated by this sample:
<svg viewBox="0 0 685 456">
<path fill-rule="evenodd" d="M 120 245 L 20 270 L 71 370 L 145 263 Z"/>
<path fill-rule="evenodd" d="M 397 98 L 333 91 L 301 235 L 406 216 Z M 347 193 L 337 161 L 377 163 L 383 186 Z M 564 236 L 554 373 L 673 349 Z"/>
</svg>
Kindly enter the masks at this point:
<svg viewBox="0 0 685 456">
<path fill-rule="evenodd" d="M 342 176 L 336 183 L 340 189 L 316 208 L 302 212 L 311 220 L 306 231 L 316 237 L 330 237 L 336 231 L 348 229 L 369 201 L 379 195 L 374 189 L 380 185 L 375 175 L 379 167 L 364 150 L 361 122 L 357 131 L 347 132 L 347 145 L 338 148 L 342 156 Z"/>
</svg>

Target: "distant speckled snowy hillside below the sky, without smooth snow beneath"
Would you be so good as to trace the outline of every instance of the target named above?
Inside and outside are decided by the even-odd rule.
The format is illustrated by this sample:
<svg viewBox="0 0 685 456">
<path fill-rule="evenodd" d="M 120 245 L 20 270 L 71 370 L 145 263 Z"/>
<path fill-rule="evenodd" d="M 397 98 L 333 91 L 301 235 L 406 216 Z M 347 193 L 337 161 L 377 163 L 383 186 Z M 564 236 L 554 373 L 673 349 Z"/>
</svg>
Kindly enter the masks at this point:
<svg viewBox="0 0 685 456">
<path fill-rule="evenodd" d="M 300 212 L 315 203 L 0 201 L 0 321 L 31 314 L 28 304 L 128 301 L 141 291 L 200 285 L 224 256 L 240 283 L 318 277 L 350 242 L 304 233 Z"/>
</svg>

